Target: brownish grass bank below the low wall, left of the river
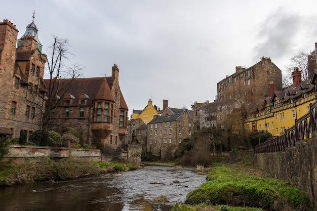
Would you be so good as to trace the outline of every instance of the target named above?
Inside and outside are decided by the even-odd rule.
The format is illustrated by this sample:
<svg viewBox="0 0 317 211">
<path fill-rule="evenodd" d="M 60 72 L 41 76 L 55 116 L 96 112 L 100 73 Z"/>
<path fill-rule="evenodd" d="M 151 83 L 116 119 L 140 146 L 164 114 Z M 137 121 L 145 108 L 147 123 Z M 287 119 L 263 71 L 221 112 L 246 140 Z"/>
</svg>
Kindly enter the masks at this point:
<svg viewBox="0 0 317 211">
<path fill-rule="evenodd" d="M 86 159 L 53 161 L 50 158 L 13 160 L 0 163 L 0 185 L 37 181 L 61 181 L 130 171 L 141 166 L 122 162 L 100 162 Z"/>
</svg>

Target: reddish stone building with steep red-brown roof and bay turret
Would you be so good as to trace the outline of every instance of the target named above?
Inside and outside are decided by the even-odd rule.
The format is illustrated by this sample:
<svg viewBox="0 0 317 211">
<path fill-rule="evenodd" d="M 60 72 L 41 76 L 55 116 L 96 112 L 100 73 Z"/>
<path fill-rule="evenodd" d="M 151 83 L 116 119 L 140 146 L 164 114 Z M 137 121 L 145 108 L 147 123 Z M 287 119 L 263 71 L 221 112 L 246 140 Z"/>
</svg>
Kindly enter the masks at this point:
<svg viewBox="0 0 317 211">
<path fill-rule="evenodd" d="M 61 79 L 56 86 L 64 92 L 70 80 Z M 49 79 L 45 82 L 48 84 Z M 100 142 L 104 156 L 119 156 L 127 135 L 128 106 L 120 90 L 117 65 L 113 65 L 109 77 L 75 78 L 61 96 L 48 128 L 59 133 L 75 129 L 82 134 L 82 144 Z"/>
</svg>

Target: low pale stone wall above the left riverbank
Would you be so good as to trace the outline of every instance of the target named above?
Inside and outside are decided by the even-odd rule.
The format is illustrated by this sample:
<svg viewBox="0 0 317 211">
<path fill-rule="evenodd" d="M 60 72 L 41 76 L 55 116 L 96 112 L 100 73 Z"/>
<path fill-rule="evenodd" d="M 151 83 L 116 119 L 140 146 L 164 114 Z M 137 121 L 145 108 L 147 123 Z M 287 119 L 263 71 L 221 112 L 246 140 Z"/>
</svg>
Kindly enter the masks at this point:
<svg viewBox="0 0 317 211">
<path fill-rule="evenodd" d="M 67 147 L 10 145 L 9 154 L 6 156 L 6 158 L 52 157 L 53 159 L 62 159 L 72 157 L 101 160 L 101 156 L 101 150 L 72 148 L 69 149 Z"/>
</svg>

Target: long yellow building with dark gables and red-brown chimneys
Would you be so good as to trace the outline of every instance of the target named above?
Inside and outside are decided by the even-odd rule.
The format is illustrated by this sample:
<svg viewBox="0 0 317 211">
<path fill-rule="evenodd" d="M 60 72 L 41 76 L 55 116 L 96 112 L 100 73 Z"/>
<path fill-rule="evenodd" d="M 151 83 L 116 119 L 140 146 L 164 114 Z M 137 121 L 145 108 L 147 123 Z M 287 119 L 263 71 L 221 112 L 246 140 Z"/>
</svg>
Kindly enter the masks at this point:
<svg viewBox="0 0 317 211">
<path fill-rule="evenodd" d="M 270 82 L 270 97 L 250 105 L 250 114 L 245 120 L 248 130 L 281 136 L 296 119 L 309 112 L 309 104 L 316 100 L 314 83 L 311 80 L 301 82 L 301 72 L 294 69 L 294 86 L 274 91 L 274 84 Z"/>
</svg>

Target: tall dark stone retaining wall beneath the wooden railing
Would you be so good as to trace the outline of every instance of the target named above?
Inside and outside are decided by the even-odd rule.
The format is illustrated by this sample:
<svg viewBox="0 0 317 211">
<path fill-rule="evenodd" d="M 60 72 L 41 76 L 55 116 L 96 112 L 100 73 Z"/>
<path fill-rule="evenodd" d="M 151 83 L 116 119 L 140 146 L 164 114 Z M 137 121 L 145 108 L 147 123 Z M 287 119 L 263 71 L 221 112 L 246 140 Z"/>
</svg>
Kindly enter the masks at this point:
<svg viewBox="0 0 317 211">
<path fill-rule="evenodd" d="M 254 163 L 270 175 L 287 180 L 305 191 L 315 207 L 317 204 L 316 153 L 316 138 L 312 138 L 296 143 L 285 152 L 255 154 Z M 314 210 L 317 210 L 317 207 Z"/>
</svg>

